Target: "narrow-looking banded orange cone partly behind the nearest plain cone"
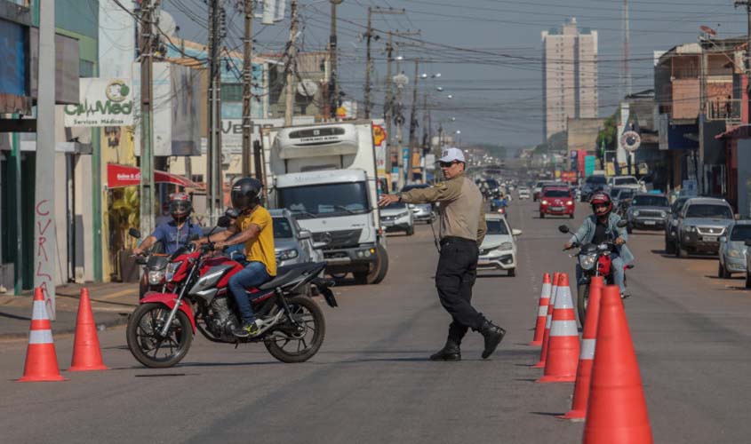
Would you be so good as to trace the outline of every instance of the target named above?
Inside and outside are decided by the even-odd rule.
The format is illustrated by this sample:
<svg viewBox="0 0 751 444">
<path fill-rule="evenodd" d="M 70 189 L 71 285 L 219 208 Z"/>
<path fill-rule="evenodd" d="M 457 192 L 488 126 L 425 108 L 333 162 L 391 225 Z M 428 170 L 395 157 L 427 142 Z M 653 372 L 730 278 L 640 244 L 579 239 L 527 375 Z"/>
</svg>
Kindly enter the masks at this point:
<svg viewBox="0 0 751 444">
<path fill-rule="evenodd" d="M 581 354 L 579 354 L 579 367 L 576 370 L 576 385 L 574 385 L 573 389 L 571 410 L 563 416 L 558 416 L 562 419 L 583 421 L 584 417 L 587 416 L 589 383 L 592 377 L 592 363 L 595 359 L 597 320 L 599 319 L 600 297 L 604 285 L 605 281 L 602 276 L 593 277 L 589 283 L 589 305 L 587 305 L 584 333 L 581 335 Z"/>
</svg>

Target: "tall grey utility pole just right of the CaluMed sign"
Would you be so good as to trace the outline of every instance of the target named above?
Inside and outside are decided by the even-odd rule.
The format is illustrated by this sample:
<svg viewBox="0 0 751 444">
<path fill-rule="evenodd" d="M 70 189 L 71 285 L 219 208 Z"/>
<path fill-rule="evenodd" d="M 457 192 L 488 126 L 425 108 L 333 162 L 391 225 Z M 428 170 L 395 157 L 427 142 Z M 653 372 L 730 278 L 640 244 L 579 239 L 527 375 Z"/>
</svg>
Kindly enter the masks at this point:
<svg viewBox="0 0 751 444">
<path fill-rule="evenodd" d="M 148 236 L 154 231 L 154 151 L 153 139 L 153 73 L 155 17 L 158 6 L 144 0 L 140 12 L 140 232 Z"/>
</svg>

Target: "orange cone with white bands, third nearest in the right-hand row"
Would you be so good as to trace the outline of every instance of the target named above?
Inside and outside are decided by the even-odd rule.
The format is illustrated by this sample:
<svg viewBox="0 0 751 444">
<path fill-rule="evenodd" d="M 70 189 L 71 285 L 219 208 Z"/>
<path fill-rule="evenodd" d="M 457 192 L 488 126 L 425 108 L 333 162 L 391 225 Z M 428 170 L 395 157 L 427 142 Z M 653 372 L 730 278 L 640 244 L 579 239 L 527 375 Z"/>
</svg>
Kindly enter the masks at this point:
<svg viewBox="0 0 751 444">
<path fill-rule="evenodd" d="M 576 313 L 571 300 L 568 274 L 558 279 L 558 294 L 555 296 L 553 323 L 547 341 L 545 374 L 539 383 L 572 383 L 576 380 L 579 364 L 579 330 L 576 328 Z"/>
</svg>

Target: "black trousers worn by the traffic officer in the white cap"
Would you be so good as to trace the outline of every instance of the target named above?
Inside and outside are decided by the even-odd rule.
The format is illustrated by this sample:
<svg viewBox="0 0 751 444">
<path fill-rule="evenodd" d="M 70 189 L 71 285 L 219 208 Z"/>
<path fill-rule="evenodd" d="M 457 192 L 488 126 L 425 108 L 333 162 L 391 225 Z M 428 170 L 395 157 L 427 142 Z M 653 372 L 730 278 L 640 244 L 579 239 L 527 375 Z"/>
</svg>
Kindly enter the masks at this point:
<svg viewBox="0 0 751 444">
<path fill-rule="evenodd" d="M 451 314 L 449 340 L 461 343 L 467 329 L 480 329 L 485 318 L 472 306 L 472 286 L 477 275 L 477 242 L 460 237 L 441 240 L 441 257 L 435 272 L 435 287 L 441 305 Z"/>
</svg>

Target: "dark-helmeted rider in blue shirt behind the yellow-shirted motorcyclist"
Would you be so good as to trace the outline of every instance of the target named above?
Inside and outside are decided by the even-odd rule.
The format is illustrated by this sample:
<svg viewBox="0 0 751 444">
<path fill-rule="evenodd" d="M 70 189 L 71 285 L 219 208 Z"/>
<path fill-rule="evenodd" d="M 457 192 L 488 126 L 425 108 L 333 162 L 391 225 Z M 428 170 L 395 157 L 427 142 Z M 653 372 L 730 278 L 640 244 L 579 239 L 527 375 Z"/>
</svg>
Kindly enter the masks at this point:
<svg viewBox="0 0 751 444">
<path fill-rule="evenodd" d="M 156 226 L 154 233 L 148 236 L 140 245 L 133 249 L 133 254 L 141 254 L 156 242 L 162 242 L 164 253 L 172 255 L 180 246 L 188 242 L 194 235 L 201 237 L 201 227 L 190 221 L 193 205 L 188 194 L 175 193 L 170 195 L 170 216 L 172 220 Z"/>
</svg>

